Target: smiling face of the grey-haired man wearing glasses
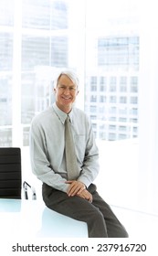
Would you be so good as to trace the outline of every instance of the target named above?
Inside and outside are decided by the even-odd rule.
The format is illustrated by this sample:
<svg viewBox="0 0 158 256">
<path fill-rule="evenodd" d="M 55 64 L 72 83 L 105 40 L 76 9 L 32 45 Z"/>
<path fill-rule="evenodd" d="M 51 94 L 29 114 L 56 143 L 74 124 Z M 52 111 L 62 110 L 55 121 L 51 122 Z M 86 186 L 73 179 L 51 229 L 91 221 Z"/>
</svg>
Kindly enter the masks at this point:
<svg viewBox="0 0 158 256">
<path fill-rule="evenodd" d="M 57 88 L 55 88 L 54 91 L 56 93 L 58 108 L 63 112 L 70 112 L 72 104 L 79 93 L 77 86 L 67 75 L 61 75 L 58 80 Z"/>
</svg>

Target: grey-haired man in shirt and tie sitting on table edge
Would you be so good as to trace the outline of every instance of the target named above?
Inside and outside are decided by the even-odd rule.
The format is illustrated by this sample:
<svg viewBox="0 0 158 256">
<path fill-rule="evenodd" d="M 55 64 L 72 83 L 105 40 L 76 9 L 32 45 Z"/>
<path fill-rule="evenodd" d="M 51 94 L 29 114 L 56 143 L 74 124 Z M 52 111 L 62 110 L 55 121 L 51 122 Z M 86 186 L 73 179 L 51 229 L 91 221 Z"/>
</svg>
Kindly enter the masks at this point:
<svg viewBox="0 0 158 256">
<path fill-rule="evenodd" d="M 34 174 L 43 182 L 47 208 L 87 222 L 90 238 L 124 238 L 126 230 L 92 183 L 99 172 L 99 153 L 89 118 L 74 106 L 79 80 L 63 71 L 55 82 L 56 102 L 38 114 L 30 129 L 30 153 Z M 75 156 L 66 154 L 66 123 L 74 141 Z M 68 178 L 67 164 L 76 160 L 74 177 Z M 71 163 L 72 162 L 72 163 Z"/>
</svg>

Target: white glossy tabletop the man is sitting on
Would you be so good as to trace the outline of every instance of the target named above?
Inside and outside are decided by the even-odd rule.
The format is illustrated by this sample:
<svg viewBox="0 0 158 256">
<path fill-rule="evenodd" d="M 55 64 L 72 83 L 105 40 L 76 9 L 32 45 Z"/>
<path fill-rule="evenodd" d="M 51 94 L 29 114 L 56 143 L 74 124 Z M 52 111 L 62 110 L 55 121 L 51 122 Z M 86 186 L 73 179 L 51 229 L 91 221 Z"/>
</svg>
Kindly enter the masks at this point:
<svg viewBox="0 0 158 256">
<path fill-rule="evenodd" d="M 87 224 L 47 208 L 42 201 L 0 199 L 0 236 L 9 238 L 87 238 Z"/>
</svg>

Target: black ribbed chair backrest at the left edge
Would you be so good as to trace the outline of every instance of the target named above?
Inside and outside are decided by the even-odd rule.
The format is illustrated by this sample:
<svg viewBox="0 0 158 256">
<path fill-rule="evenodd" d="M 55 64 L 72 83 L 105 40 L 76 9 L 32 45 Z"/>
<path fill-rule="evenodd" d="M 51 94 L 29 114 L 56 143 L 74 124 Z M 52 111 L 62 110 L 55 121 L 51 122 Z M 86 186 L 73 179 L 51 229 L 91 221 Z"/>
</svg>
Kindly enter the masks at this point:
<svg viewBox="0 0 158 256">
<path fill-rule="evenodd" d="M 0 197 L 21 199 L 21 150 L 0 147 Z"/>
</svg>

